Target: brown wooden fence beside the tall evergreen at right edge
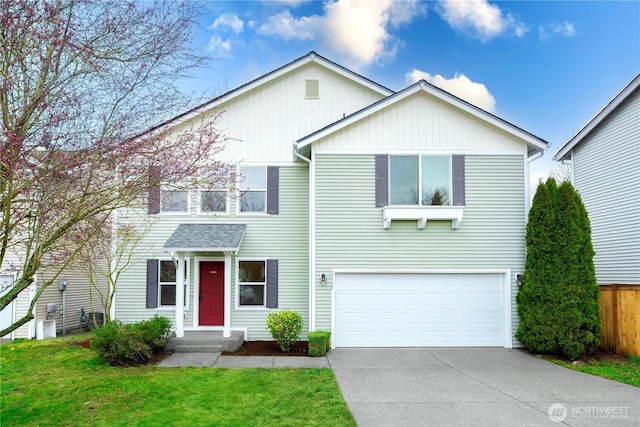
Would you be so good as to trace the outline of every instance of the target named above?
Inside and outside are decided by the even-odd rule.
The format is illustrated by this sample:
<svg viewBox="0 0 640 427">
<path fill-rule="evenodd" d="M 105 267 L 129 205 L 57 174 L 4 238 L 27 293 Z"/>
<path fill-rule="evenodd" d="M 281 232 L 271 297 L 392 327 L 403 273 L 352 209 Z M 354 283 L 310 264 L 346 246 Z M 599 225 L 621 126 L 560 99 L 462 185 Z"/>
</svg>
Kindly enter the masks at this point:
<svg viewBox="0 0 640 427">
<path fill-rule="evenodd" d="M 640 356 L 640 285 L 601 285 L 600 346 Z"/>
</svg>

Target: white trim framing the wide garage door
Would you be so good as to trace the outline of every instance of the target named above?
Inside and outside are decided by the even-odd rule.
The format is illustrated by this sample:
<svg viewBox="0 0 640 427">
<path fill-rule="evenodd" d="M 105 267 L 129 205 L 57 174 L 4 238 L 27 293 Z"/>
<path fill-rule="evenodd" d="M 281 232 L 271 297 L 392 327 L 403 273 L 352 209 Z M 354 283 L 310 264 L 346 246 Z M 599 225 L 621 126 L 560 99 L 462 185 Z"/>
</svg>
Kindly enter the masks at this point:
<svg viewBox="0 0 640 427">
<path fill-rule="evenodd" d="M 502 291 L 503 291 L 503 339 L 504 348 L 513 348 L 513 332 L 511 321 L 511 269 L 453 269 L 453 268 L 434 268 L 434 269 L 422 269 L 422 268 L 409 268 L 409 269 L 375 269 L 375 268 L 337 268 L 331 270 L 331 335 L 335 337 L 336 334 L 336 274 L 502 274 Z M 331 348 L 335 348 L 335 340 L 331 340 Z"/>
</svg>

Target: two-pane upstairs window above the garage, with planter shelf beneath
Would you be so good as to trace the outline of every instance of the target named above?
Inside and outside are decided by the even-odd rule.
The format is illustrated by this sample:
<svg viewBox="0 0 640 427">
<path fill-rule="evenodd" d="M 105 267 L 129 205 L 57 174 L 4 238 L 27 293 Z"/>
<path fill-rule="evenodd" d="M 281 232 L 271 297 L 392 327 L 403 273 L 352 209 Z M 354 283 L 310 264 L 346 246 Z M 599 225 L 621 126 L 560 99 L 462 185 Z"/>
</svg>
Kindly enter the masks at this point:
<svg viewBox="0 0 640 427">
<path fill-rule="evenodd" d="M 451 206 L 450 156 L 389 156 L 391 205 Z"/>
</svg>

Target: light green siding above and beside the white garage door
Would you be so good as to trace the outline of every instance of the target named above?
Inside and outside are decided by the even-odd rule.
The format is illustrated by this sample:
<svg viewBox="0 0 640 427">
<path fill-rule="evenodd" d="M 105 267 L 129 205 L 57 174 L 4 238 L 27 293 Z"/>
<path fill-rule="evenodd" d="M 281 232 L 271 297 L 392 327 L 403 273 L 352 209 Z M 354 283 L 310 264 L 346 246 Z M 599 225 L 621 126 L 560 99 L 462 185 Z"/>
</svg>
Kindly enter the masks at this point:
<svg viewBox="0 0 640 427">
<path fill-rule="evenodd" d="M 375 156 L 318 154 L 316 162 L 316 328 L 331 329 L 335 269 L 524 270 L 525 188 L 521 155 L 466 155 L 466 207 L 451 221 L 393 221 L 382 228 L 375 207 Z M 512 323 L 517 329 L 512 283 Z"/>
</svg>

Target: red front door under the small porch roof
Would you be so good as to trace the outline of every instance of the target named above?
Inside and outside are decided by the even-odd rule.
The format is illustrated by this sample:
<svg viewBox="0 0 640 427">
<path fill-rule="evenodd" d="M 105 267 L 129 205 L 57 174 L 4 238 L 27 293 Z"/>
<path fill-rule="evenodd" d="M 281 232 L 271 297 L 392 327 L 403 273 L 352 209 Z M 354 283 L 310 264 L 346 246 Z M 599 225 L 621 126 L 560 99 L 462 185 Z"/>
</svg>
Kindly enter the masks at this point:
<svg viewBox="0 0 640 427">
<path fill-rule="evenodd" d="M 200 263 L 200 325 L 224 325 L 224 262 Z"/>
</svg>

